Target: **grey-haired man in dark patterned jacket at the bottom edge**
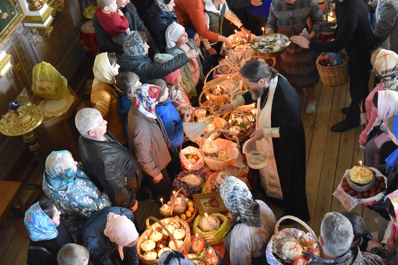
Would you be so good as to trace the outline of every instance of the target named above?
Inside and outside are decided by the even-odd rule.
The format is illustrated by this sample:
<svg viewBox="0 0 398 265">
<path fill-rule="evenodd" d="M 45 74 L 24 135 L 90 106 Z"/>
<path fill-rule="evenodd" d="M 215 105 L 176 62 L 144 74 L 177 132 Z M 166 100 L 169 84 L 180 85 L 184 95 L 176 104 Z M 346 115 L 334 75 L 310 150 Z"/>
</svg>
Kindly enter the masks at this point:
<svg viewBox="0 0 398 265">
<path fill-rule="evenodd" d="M 359 251 L 356 247 L 351 251 L 354 238 L 351 222 L 339 212 L 328 212 L 321 223 L 319 242 L 324 257 L 317 257 L 304 252 L 311 258 L 309 264 L 338 265 L 392 265 L 391 252 L 381 246 L 372 247 L 370 252 Z M 378 255 L 376 255 L 376 253 Z M 382 254 L 380 254 L 382 253 Z M 384 255 L 380 257 L 379 255 Z"/>
</svg>

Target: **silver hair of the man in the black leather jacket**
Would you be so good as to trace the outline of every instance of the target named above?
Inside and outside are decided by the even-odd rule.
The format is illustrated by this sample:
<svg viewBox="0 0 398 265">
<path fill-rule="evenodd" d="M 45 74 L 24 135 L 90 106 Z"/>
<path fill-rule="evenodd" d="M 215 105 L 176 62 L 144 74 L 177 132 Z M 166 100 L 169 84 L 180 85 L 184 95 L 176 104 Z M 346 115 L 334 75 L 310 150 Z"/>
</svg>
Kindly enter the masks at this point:
<svg viewBox="0 0 398 265">
<path fill-rule="evenodd" d="M 98 127 L 97 122 L 101 117 L 101 112 L 98 109 L 80 109 L 75 117 L 76 128 L 82 136 L 86 137 L 89 131 Z"/>
</svg>

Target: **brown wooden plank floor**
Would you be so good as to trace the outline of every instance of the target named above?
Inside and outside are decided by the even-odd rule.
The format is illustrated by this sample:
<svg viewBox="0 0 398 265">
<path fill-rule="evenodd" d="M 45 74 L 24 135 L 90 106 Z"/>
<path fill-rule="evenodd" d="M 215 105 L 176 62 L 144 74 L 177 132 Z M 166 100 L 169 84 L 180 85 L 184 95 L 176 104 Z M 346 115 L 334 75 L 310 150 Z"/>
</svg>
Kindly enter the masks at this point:
<svg viewBox="0 0 398 265">
<path fill-rule="evenodd" d="M 330 88 L 318 83 L 315 88 L 316 110 L 312 115 L 303 114 L 302 123 L 306 133 L 306 191 L 311 220 L 307 224 L 319 235 L 320 223 L 326 212 L 345 211 L 341 203 L 332 196 L 345 170 L 364 160 L 364 152 L 358 146 L 361 128 L 357 127 L 343 133 L 333 133 L 330 127 L 343 120 L 341 109 L 350 103 L 348 85 Z M 304 112 L 304 101 L 302 111 Z M 41 183 L 42 173 L 37 181 Z M 255 194 L 258 199 L 261 194 Z M 264 199 L 275 216 L 282 214 L 282 209 Z M 377 214 L 367 208 L 357 206 L 353 210 L 367 222 L 371 232 L 377 231 L 373 219 Z M 160 217 L 158 206 L 149 200 L 139 203 L 136 214 L 140 230 L 145 228 L 146 217 Z M 10 215 L 10 220 L 0 225 L 0 264 L 26 264 L 29 241 L 21 234 L 21 217 Z M 290 227 L 295 227 L 296 224 Z M 300 226 L 298 226 L 300 227 Z M 18 233 L 17 228 L 21 231 Z M 302 227 L 300 227 L 303 229 Z M 25 234 L 26 236 L 26 234 Z"/>
</svg>

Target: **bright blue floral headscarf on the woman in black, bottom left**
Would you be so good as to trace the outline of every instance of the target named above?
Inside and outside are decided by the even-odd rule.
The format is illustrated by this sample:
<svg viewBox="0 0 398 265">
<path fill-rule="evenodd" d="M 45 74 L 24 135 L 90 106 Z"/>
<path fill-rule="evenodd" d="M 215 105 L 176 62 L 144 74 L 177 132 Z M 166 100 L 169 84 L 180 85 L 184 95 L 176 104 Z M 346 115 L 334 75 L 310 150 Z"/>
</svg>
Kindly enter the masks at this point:
<svg viewBox="0 0 398 265">
<path fill-rule="evenodd" d="M 23 222 L 32 241 L 50 240 L 58 236 L 58 224 L 41 210 L 39 202 L 29 207 Z"/>
</svg>

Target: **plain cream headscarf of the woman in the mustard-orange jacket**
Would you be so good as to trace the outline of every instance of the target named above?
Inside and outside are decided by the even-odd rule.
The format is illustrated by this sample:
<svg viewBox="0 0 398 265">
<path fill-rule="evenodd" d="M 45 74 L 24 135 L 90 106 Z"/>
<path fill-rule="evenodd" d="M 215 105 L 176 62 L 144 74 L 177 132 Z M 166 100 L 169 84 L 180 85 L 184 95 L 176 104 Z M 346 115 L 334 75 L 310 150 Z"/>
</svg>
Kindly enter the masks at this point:
<svg viewBox="0 0 398 265">
<path fill-rule="evenodd" d="M 94 81 L 92 86 L 100 82 L 104 82 L 106 84 L 115 84 L 115 74 L 113 74 L 113 69 L 111 63 L 108 59 L 108 53 L 100 53 L 96 56 L 94 60 Z"/>
</svg>

